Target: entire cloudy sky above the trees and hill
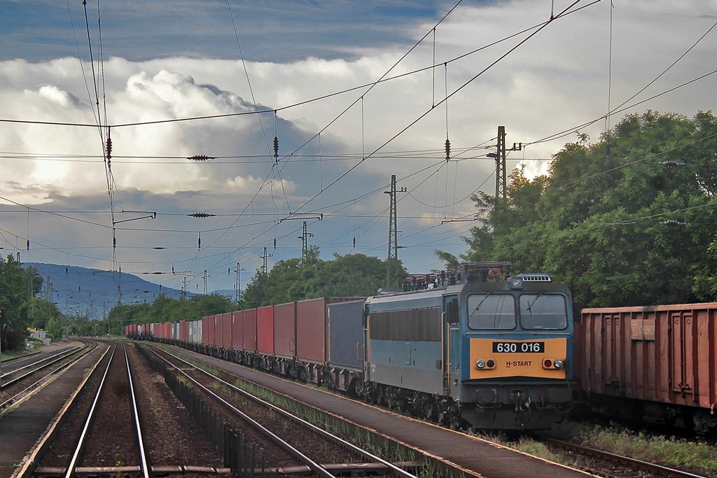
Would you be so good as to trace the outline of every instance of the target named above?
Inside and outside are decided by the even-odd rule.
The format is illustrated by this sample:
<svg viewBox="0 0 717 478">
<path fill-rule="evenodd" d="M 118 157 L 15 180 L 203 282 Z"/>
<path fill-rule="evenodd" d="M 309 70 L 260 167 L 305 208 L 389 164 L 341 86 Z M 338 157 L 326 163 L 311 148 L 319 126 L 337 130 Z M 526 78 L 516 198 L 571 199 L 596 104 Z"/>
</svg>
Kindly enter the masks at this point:
<svg viewBox="0 0 717 478">
<path fill-rule="evenodd" d="M 625 115 L 713 110 L 716 22 L 713 0 L 0 0 L 0 247 L 243 289 L 304 221 L 324 259 L 385 259 L 395 175 L 399 259 L 442 269 L 498 126 L 532 177 Z"/>
</svg>

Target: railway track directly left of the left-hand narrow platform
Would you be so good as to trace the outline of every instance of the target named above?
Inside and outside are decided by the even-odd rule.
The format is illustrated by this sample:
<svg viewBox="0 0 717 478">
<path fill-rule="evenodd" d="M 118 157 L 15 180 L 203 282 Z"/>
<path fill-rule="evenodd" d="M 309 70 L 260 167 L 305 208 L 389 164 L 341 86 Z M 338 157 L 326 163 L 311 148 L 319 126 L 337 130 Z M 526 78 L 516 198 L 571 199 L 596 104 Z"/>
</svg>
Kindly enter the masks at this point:
<svg viewBox="0 0 717 478">
<path fill-rule="evenodd" d="M 77 363 L 94 347 L 95 344 L 85 342 L 82 346 L 60 350 L 39 360 L 36 354 L 31 354 L 32 357 L 28 355 L 22 357 L 26 360 L 14 361 L 10 366 L 11 370 L 0 377 L 0 411 L 42 386 L 65 368 Z"/>
</svg>

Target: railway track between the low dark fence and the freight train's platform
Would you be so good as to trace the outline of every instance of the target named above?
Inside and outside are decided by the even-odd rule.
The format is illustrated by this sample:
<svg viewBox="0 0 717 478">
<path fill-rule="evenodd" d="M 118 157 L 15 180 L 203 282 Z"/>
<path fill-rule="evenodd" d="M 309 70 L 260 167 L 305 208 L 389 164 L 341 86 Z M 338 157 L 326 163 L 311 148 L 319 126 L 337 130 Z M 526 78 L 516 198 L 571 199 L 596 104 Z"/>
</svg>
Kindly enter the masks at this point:
<svg viewBox="0 0 717 478">
<path fill-rule="evenodd" d="M 157 360 L 162 360 L 167 367 L 174 368 L 186 381 L 191 382 L 207 396 L 212 396 L 215 401 L 222 403 L 232 411 L 232 414 L 240 416 L 245 423 L 260 431 L 263 436 L 269 437 L 274 444 L 298 460 L 298 465 L 281 467 L 278 469 L 279 472 L 306 471 L 320 477 L 335 477 L 352 471 L 366 472 L 381 469 L 384 472 L 388 470 L 392 476 L 415 477 L 397 464 L 377 457 L 336 434 L 310 424 L 290 411 L 222 380 L 177 355 L 166 350 L 158 353 L 154 349 L 152 353 Z M 244 413 L 245 411 L 247 413 Z M 317 452 L 317 449 L 320 449 L 320 452 Z M 330 461 L 326 461 L 327 459 Z M 409 463 L 411 467 L 419 465 L 420 463 L 417 462 Z"/>
</svg>

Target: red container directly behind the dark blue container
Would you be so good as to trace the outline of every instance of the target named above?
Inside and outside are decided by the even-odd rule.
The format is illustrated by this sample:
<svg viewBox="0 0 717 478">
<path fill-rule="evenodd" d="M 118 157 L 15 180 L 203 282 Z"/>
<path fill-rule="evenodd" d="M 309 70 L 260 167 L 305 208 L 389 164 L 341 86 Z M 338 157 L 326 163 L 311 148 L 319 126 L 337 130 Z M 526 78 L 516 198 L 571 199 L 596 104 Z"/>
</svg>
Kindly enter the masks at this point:
<svg viewBox="0 0 717 478">
<path fill-rule="evenodd" d="M 326 305 L 366 297 L 321 297 L 296 302 L 296 358 L 302 362 L 326 362 Z"/>
</svg>

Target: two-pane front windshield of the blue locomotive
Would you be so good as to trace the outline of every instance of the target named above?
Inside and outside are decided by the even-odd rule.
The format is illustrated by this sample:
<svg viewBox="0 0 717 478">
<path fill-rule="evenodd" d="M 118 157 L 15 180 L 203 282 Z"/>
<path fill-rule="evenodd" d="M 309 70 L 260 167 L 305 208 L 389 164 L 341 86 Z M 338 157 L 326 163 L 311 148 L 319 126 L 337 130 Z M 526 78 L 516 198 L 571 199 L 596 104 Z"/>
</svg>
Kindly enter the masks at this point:
<svg viewBox="0 0 717 478">
<path fill-rule="evenodd" d="M 567 306 L 562 295 L 536 293 L 515 297 L 488 292 L 469 295 L 467 300 L 468 327 L 473 330 L 514 329 L 518 316 L 523 330 L 562 330 L 568 325 Z"/>
</svg>

